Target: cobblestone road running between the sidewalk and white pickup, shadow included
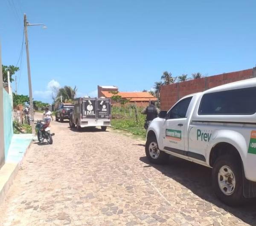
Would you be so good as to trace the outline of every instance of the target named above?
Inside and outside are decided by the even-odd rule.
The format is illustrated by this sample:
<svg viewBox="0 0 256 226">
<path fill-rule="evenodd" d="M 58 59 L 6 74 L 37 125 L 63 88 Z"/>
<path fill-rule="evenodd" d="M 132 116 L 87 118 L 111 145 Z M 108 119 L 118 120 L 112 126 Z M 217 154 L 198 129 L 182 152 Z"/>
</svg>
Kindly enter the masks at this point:
<svg viewBox="0 0 256 226">
<path fill-rule="evenodd" d="M 150 165 L 145 142 L 116 131 L 51 128 L 54 143 L 26 154 L 0 225 L 256 225 L 256 204 L 221 204 L 204 166 L 175 157 Z"/>
</svg>

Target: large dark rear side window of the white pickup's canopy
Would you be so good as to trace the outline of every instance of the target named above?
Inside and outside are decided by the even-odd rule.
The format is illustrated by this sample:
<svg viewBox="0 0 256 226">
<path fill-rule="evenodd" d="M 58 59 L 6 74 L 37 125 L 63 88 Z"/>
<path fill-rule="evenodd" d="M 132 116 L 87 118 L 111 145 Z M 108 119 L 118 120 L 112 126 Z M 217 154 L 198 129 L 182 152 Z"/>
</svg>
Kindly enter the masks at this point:
<svg viewBox="0 0 256 226">
<path fill-rule="evenodd" d="M 255 114 L 256 87 L 207 93 L 198 114 Z"/>
</svg>

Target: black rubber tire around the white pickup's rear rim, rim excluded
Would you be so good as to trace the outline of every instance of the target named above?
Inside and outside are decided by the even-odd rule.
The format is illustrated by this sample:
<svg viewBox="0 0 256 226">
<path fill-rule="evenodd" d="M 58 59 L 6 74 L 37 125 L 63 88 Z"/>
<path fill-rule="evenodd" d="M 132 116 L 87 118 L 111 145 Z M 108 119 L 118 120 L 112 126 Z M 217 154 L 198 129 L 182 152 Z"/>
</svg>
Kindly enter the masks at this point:
<svg viewBox="0 0 256 226">
<path fill-rule="evenodd" d="M 227 182 L 230 180 L 231 182 L 233 181 L 232 176 L 235 177 L 235 186 L 230 186 L 233 192 L 232 194 L 226 195 L 224 192 L 227 190 L 226 187 L 224 187 L 224 192 L 222 192 L 218 181 L 224 181 L 225 178 L 222 177 L 221 175 L 218 175 L 220 169 L 224 169 L 224 172 L 227 172 L 227 168 L 225 166 L 229 167 L 233 175 L 231 177 L 228 177 Z M 242 165 L 241 165 L 241 160 L 239 160 L 237 157 L 234 157 L 232 155 L 222 155 L 217 158 L 213 165 L 212 169 L 212 186 L 214 189 L 215 194 L 217 197 L 225 204 L 228 206 L 238 206 L 244 202 L 244 196 L 243 196 L 243 176 L 242 176 Z M 220 177 L 220 179 L 219 179 Z M 228 186 L 227 186 L 228 187 Z"/>
</svg>

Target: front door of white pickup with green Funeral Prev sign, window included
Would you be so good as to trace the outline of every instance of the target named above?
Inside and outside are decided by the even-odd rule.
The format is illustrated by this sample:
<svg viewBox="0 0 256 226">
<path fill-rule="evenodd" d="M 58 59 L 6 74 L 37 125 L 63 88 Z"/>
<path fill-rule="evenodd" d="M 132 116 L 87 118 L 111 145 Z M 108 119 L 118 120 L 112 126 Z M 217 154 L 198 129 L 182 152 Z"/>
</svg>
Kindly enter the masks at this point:
<svg viewBox="0 0 256 226">
<path fill-rule="evenodd" d="M 186 156 L 185 140 L 188 139 L 187 132 L 187 110 L 192 97 L 180 100 L 167 113 L 163 124 L 162 137 L 163 149 Z"/>
</svg>

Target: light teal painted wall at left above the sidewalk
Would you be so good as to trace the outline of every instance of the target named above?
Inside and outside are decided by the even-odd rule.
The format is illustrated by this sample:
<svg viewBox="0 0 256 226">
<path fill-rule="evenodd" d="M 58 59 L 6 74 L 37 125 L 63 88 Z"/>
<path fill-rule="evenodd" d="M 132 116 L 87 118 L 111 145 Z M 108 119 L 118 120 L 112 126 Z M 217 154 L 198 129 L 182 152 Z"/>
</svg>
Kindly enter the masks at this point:
<svg viewBox="0 0 256 226">
<path fill-rule="evenodd" d="M 12 141 L 12 97 L 3 89 L 3 127 L 4 127 L 4 154 L 5 159 Z"/>
</svg>

